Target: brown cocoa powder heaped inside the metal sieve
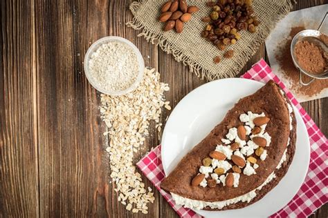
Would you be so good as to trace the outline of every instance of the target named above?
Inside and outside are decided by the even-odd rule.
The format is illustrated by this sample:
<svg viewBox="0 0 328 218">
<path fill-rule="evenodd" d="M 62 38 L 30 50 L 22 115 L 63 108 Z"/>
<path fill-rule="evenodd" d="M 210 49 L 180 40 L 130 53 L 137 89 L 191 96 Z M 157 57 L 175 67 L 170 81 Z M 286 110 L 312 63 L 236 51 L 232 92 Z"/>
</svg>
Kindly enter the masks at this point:
<svg viewBox="0 0 328 218">
<path fill-rule="evenodd" d="M 309 41 L 299 41 L 295 45 L 294 54 L 300 68 L 313 75 L 322 74 L 326 69 L 325 51 Z"/>
</svg>

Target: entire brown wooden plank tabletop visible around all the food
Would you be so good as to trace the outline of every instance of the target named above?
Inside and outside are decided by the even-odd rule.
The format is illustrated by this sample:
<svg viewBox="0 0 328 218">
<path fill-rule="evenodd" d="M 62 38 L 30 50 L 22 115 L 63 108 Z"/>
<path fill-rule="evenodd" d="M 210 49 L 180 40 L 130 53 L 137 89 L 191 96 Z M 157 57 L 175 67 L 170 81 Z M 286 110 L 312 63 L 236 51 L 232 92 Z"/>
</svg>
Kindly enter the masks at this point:
<svg viewBox="0 0 328 218">
<path fill-rule="evenodd" d="M 117 201 L 109 182 L 99 93 L 83 71 L 91 43 L 117 35 L 134 42 L 146 66 L 161 72 L 161 81 L 171 88 L 165 97 L 172 108 L 206 82 L 125 26 L 132 19 L 129 3 L 1 1 L 0 217 L 177 217 L 158 192 L 149 215 L 133 215 Z M 322 3 L 327 0 L 300 0 L 295 10 Z M 267 59 L 264 45 L 241 73 L 261 57 Z M 328 135 L 328 99 L 302 106 Z M 154 125 L 150 132 L 155 137 L 147 139 L 136 161 L 159 143 Z M 328 217 L 328 206 L 312 217 Z"/>
</svg>

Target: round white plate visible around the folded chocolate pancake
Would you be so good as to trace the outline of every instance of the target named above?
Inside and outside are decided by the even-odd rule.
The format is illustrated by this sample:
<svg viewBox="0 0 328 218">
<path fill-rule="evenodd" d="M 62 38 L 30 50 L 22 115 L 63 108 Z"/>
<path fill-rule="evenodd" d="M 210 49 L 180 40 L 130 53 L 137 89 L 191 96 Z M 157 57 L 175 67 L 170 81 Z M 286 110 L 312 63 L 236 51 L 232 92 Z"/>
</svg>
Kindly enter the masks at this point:
<svg viewBox="0 0 328 218">
<path fill-rule="evenodd" d="M 242 97 L 253 94 L 264 86 L 250 79 L 220 79 L 206 83 L 185 96 L 167 120 L 162 138 L 162 161 L 168 175 L 199 141 L 226 115 Z M 196 210 L 204 217 L 268 217 L 283 208 L 300 189 L 310 160 L 307 128 L 299 112 L 297 140 L 293 162 L 280 183 L 261 200 L 246 208 L 225 211 Z"/>
</svg>

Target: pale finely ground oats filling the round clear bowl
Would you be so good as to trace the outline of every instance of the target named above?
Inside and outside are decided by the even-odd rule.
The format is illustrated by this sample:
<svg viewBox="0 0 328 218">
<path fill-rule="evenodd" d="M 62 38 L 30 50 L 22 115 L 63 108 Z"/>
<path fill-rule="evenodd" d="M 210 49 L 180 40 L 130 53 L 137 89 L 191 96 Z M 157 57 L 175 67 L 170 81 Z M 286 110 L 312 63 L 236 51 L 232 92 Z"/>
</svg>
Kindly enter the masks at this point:
<svg viewBox="0 0 328 218">
<path fill-rule="evenodd" d="M 126 90 L 138 76 L 138 59 L 127 44 L 109 41 L 91 55 L 89 70 L 93 80 L 105 90 Z"/>
</svg>

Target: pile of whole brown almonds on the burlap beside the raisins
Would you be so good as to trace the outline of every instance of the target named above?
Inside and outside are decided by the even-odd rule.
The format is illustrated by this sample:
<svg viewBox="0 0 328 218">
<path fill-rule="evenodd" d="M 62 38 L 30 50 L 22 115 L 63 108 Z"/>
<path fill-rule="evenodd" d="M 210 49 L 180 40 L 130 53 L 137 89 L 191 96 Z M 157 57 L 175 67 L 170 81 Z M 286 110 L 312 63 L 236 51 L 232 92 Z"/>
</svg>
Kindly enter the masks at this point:
<svg viewBox="0 0 328 218">
<path fill-rule="evenodd" d="M 197 6 L 187 5 L 186 0 L 170 0 L 165 3 L 161 8 L 161 15 L 158 20 L 166 22 L 163 30 L 170 31 L 175 28 L 177 33 L 183 31 L 183 23 L 190 21 L 192 14 L 199 11 Z"/>
</svg>

